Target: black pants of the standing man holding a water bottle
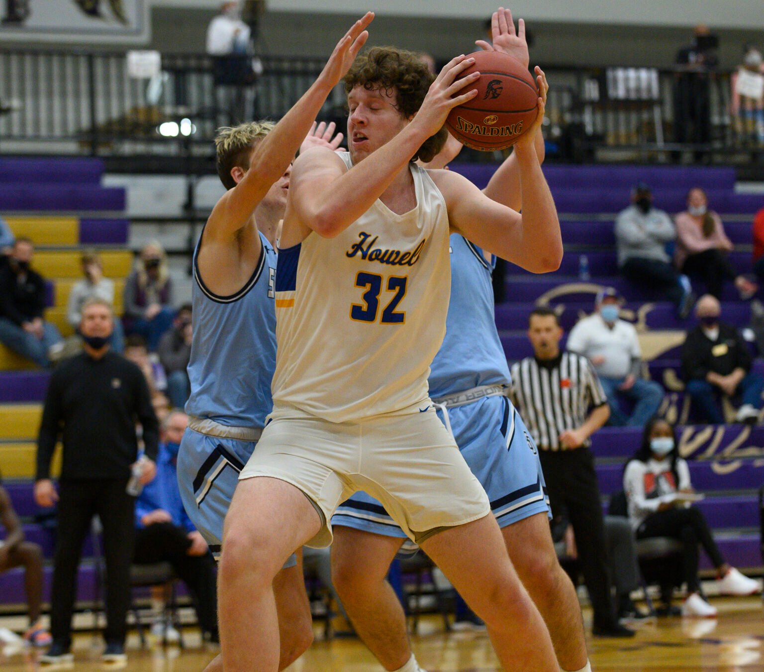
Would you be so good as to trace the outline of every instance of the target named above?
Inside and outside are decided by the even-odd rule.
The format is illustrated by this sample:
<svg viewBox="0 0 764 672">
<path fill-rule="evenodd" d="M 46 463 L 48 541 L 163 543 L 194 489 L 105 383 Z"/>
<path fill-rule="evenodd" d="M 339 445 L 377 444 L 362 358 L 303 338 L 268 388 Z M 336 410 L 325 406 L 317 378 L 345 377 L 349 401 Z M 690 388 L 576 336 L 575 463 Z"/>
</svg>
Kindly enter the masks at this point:
<svg viewBox="0 0 764 672">
<path fill-rule="evenodd" d="M 59 484 L 58 531 L 50 594 L 50 634 L 68 648 L 77 591 L 77 569 L 90 521 L 103 525 L 106 560 L 107 642 L 125 642 L 130 608 L 130 564 L 133 559 L 135 499 L 125 492 L 128 479 L 62 479 Z"/>
</svg>

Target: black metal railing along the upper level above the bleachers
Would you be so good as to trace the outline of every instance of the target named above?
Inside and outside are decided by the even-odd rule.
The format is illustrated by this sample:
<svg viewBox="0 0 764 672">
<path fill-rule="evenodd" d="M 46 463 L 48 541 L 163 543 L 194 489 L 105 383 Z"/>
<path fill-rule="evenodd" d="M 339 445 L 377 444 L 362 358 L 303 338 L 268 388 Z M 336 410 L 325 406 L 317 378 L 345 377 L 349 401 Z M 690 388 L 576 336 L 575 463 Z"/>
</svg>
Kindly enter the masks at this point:
<svg viewBox="0 0 764 672">
<path fill-rule="evenodd" d="M 322 57 L 264 56 L 251 63 L 163 54 L 160 73 L 135 79 L 125 52 L 0 49 L 0 152 L 89 154 L 108 157 L 112 166 L 164 158 L 186 170 L 189 160 L 211 159 L 219 126 L 280 118 L 323 64 Z M 545 71 L 552 84 L 545 132 L 551 156 L 671 161 L 690 151 L 714 161 L 750 161 L 764 155 L 755 135 L 736 130 L 728 72 L 706 76 L 698 102 L 681 99 L 688 75 L 675 70 Z M 344 99 L 338 86 L 322 116 L 342 120 Z M 677 121 L 678 114 L 684 118 Z"/>
</svg>

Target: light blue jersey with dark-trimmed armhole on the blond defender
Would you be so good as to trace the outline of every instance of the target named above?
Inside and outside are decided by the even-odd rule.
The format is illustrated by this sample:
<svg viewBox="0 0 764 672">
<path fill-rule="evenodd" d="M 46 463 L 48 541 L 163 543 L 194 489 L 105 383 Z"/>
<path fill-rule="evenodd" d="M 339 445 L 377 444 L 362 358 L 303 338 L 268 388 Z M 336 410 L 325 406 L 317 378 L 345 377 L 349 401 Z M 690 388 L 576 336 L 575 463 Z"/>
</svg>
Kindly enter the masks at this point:
<svg viewBox="0 0 764 672">
<path fill-rule="evenodd" d="M 260 261 L 236 294 L 213 294 L 193 255 L 191 396 L 186 413 L 228 427 L 262 428 L 273 410 L 270 381 L 276 368 L 274 282 L 277 255 L 260 233 Z"/>
</svg>

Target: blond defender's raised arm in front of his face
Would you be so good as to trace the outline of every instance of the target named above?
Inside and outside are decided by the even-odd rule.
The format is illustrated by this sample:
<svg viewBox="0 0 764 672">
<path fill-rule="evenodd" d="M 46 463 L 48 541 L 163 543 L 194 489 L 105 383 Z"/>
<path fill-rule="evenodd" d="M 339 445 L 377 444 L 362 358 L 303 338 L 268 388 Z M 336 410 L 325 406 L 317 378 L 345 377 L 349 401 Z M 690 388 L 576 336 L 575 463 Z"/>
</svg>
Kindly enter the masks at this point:
<svg viewBox="0 0 764 672">
<path fill-rule="evenodd" d="M 311 130 L 326 97 L 345 76 L 366 43 L 369 11 L 337 43 L 316 82 L 252 151 L 249 169 L 241 181 L 219 200 L 209 217 L 206 235 L 228 238 L 248 222 L 270 187 L 286 172 L 296 151 Z"/>
</svg>

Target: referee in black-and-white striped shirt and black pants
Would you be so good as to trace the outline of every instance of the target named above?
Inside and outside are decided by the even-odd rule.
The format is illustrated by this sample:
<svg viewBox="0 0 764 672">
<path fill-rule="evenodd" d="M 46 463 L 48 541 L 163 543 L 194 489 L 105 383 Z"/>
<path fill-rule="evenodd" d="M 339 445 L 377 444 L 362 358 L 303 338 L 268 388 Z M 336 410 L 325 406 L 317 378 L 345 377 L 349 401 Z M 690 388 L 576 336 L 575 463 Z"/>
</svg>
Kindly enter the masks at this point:
<svg viewBox="0 0 764 672">
<path fill-rule="evenodd" d="M 594 610 L 592 633 L 632 637 L 634 631 L 618 623 L 613 609 L 600 489 L 589 450 L 589 437 L 610 416 L 607 398 L 588 359 L 560 352 L 562 329 L 554 311 L 533 310 L 528 337 L 536 354 L 513 365 L 513 398 L 539 446 L 552 514 L 564 508 L 573 526 Z"/>
</svg>

